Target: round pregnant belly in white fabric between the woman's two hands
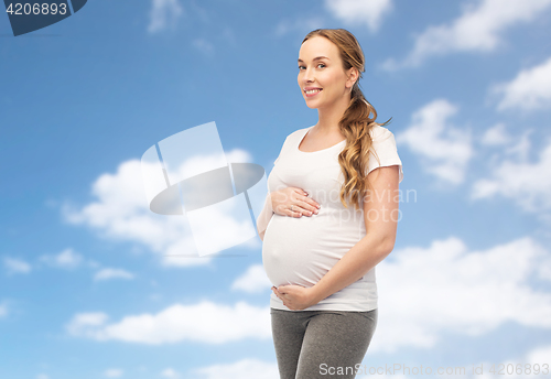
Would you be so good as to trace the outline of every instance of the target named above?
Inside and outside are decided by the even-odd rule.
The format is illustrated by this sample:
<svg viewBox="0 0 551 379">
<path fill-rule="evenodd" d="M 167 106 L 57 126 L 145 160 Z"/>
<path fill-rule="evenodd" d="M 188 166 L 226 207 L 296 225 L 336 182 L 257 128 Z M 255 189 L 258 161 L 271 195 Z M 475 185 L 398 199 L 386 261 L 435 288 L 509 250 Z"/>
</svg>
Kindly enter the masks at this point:
<svg viewBox="0 0 551 379">
<path fill-rule="evenodd" d="M 322 213 L 300 218 L 273 215 L 262 245 L 268 279 L 277 286 L 313 286 L 357 242 L 349 230 L 327 223 Z"/>
</svg>

